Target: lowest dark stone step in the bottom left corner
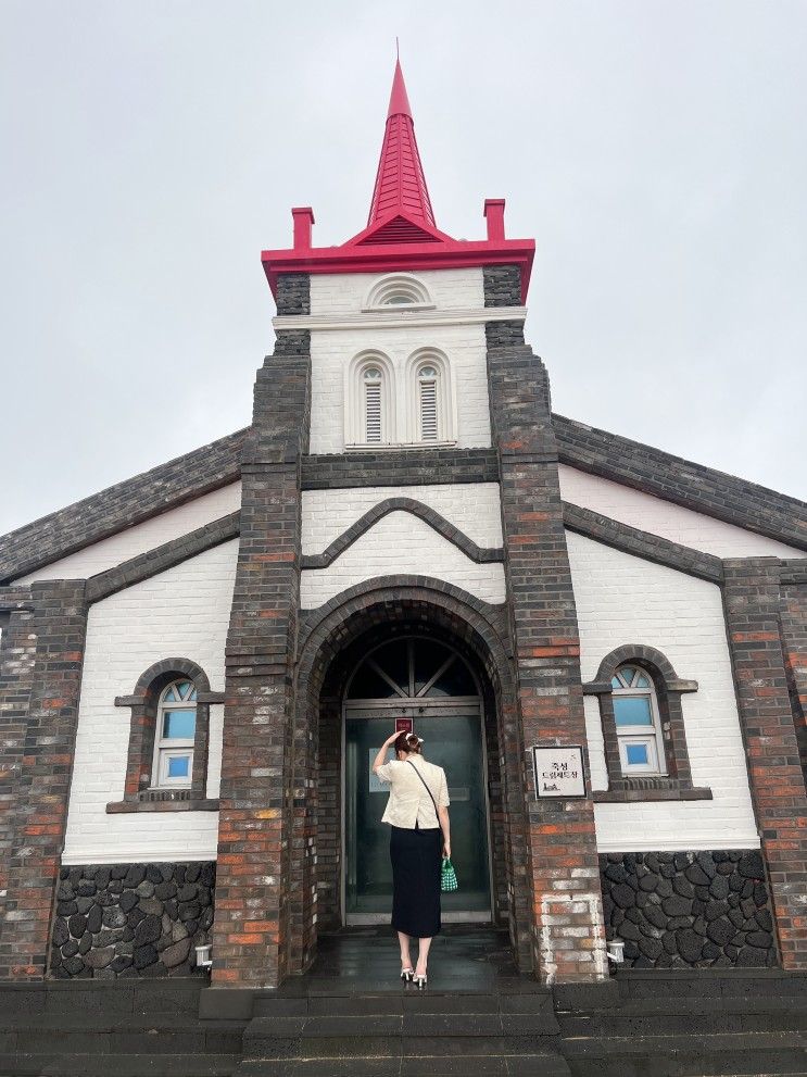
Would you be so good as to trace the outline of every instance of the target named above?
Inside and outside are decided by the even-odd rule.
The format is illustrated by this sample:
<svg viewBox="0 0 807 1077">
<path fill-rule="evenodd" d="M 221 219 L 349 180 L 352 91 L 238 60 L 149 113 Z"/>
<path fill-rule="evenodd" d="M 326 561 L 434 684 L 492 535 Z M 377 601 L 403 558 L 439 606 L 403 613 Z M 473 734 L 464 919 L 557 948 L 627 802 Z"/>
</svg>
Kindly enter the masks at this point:
<svg viewBox="0 0 807 1077">
<path fill-rule="evenodd" d="M 2 1054 L 0 1077 L 232 1077 L 238 1055 Z M 320 1075 L 324 1077 L 324 1075 Z"/>
</svg>

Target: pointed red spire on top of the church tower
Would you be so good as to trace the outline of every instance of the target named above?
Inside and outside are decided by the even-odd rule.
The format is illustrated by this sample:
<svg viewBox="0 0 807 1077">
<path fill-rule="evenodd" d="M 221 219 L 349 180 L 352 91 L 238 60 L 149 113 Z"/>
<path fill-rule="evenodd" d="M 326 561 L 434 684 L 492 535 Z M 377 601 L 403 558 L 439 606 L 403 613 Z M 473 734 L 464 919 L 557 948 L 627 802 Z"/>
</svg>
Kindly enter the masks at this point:
<svg viewBox="0 0 807 1077">
<path fill-rule="evenodd" d="M 367 226 L 392 222 L 396 217 L 404 217 L 413 225 L 437 227 L 400 62 L 395 64 L 392 79 L 387 129 Z"/>
</svg>

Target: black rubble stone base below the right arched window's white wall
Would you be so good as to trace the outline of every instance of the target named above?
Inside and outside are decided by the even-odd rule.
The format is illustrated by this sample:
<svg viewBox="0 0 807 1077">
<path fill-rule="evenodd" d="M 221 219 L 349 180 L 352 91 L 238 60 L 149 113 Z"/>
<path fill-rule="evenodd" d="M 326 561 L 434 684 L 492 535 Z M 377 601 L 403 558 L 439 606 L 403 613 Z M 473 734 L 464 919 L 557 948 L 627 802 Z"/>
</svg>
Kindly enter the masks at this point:
<svg viewBox="0 0 807 1077">
<path fill-rule="evenodd" d="M 633 968 L 777 964 L 762 859 L 748 852 L 600 857 L 608 940 Z"/>
</svg>

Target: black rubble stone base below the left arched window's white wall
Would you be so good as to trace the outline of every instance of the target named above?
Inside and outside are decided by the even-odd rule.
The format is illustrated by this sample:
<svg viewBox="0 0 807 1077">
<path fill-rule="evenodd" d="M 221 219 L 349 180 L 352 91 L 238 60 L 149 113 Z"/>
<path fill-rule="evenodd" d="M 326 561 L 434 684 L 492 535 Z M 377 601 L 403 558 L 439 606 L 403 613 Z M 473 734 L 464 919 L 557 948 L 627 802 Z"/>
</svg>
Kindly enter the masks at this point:
<svg viewBox="0 0 807 1077">
<path fill-rule="evenodd" d="M 196 972 L 194 947 L 209 941 L 213 924 L 215 863 L 63 867 L 59 879 L 51 976 Z"/>
</svg>

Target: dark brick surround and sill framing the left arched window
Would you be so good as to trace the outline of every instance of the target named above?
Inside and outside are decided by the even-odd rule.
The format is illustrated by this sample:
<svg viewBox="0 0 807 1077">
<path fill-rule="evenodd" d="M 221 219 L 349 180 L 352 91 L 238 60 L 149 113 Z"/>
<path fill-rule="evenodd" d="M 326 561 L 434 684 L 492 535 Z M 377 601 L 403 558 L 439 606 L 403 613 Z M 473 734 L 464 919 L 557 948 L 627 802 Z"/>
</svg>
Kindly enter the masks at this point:
<svg viewBox="0 0 807 1077">
<path fill-rule="evenodd" d="M 201 666 L 190 659 L 162 659 L 149 666 L 138 678 L 131 696 L 115 698 L 115 706 L 128 706 L 131 710 L 129 728 L 129 747 L 126 756 L 126 782 L 124 786 L 124 802 L 133 805 L 133 811 L 160 811 L 149 807 L 148 794 L 151 789 L 154 761 L 154 726 L 160 693 L 165 686 L 185 676 L 193 681 L 197 689 L 197 728 L 193 740 L 193 774 L 189 790 L 177 790 L 186 793 L 190 800 L 205 800 L 207 789 L 207 740 L 210 731 L 210 703 L 216 702 L 220 693 L 212 692 L 207 675 Z M 213 698 L 212 698 L 213 697 Z M 176 802 L 181 802 L 177 800 Z M 160 803 L 160 802 L 156 802 Z M 163 801 L 162 803 L 166 803 Z M 169 809 L 162 809 L 168 811 Z M 110 811 L 108 804 L 106 811 Z M 181 809 L 176 809 L 181 811 Z M 187 811 L 187 809 L 186 809 Z"/>
</svg>

